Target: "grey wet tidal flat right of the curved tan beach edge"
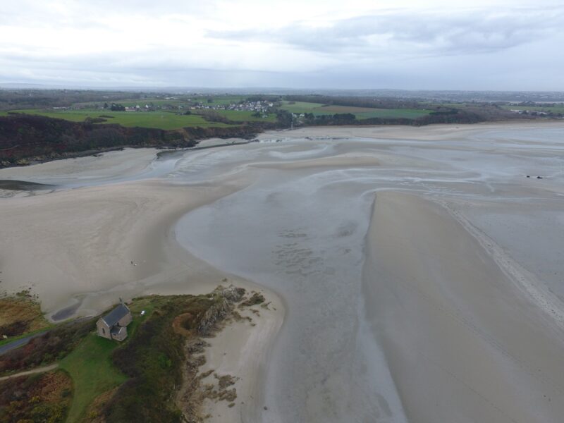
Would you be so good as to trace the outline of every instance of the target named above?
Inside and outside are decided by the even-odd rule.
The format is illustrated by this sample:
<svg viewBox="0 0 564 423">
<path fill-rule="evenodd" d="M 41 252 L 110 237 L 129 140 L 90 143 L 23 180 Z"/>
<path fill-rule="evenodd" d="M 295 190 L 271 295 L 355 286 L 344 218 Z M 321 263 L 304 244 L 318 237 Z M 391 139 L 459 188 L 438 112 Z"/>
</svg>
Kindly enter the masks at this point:
<svg viewBox="0 0 564 423">
<path fill-rule="evenodd" d="M 563 269 L 543 259 L 543 235 L 519 227 L 550 226 L 548 251 L 563 247 L 562 228 L 538 216 L 556 223 L 562 211 L 562 131 L 315 128 L 245 147 L 238 169 L 255 183 L 176 231 L 193 254 L 288 302 L 262 420 L 558 422 L 561 286 L 534 275 L 539 263 Z M 400 205 L 381 214 L 386 198 Z M 521 224 L 491 230 L 519 209 L 530 212 Z"/>
</svg>

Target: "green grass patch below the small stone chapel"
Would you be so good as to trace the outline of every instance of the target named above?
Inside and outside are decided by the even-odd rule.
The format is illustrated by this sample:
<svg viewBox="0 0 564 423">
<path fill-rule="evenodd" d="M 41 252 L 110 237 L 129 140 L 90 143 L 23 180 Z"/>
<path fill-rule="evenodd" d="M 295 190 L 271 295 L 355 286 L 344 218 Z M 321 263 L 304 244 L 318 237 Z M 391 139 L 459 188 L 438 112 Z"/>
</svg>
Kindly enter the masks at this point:
<svg viewBox="0 0 564 423">
<path fill-rule="evenodd" d="M 127 379 L 110 361 L 111 353 L 117 347 L 115 341 L 90 333 L 71 354 L 59 362 L 59 367 L 73 379 L 73 403 L 67 422 L 78 422 L 97 396 L 123 384 Z"/>
</svg>

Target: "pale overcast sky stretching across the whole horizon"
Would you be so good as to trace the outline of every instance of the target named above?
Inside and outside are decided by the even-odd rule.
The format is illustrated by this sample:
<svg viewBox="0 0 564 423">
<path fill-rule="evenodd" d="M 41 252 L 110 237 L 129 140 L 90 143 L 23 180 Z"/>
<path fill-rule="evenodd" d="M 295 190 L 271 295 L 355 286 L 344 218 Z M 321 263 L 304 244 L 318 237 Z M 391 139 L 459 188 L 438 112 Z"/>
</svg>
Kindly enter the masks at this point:
<svg viewBox="0 0 564 423">
<path fill-rule="evenodd" d="M 544 0 L 0 0 L 0 82 L 562 91 L 563 28 Z"/>
</svg>

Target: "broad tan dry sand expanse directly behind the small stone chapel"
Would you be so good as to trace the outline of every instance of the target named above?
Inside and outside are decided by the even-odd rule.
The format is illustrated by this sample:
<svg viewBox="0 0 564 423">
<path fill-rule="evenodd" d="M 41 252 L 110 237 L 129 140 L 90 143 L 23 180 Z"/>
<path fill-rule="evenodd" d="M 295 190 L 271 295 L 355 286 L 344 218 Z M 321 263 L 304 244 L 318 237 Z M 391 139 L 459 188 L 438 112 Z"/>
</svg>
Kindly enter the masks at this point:
<svg viewBox="0 0 564 423">
<path fill-rule="evenodd" d="M 234 189 L 144 181 L 0 199 L 2 288 L 31 287 L 48 313 L 80 298 L 79 314 L 159 283 L 178 289 L 187 283 L 190 264 L 180 248 L 175 251 L 171 226 Z M 195 289 L 202 277 L 198 271 L 190 276 Z"/>
</svg>

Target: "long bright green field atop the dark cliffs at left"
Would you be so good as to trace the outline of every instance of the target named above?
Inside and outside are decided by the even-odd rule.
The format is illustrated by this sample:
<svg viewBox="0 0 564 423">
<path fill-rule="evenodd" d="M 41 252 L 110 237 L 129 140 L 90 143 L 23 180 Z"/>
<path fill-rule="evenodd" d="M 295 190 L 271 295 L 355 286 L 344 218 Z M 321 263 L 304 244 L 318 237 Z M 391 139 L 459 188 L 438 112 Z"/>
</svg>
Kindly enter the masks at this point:
<svg viewBox="0 0 564 423">
<path fill-rule="evenodd" d="M 166 111 L 107 111 L 107 110 L 18 110 L 20 113 L 47 116 L 49 118 L 65 119 L 67 121 L 82 122 L 86 118 L 100 118 L 102 116 L 114 116 L 104 118 L 104 123 L 118 123 L 127 127 L 158 128 L 173 130 L 190 126 L 200 126 L 202 128 L 227 127 L 226 123 L 208 122 L 197 115 L 177 115 Z"/>
</svg>

